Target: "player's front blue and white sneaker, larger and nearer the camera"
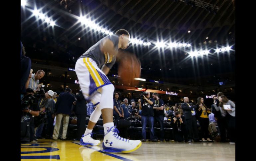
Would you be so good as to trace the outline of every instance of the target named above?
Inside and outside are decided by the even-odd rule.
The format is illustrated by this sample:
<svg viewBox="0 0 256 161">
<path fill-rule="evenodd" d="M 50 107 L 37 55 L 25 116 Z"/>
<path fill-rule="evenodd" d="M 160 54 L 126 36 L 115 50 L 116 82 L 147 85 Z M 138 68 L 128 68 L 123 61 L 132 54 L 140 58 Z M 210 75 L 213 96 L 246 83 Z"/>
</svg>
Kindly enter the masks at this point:
<svg viewBox="0 0 256 161">
<path fill-rule="evenodd" d="M 118 135 L 119 131 L 114 126 L 110 128 L 103 140 L 103 152 L 106 153 L 129 153 L 141 146 L 140 140 L 129 140 Z"/>
</svg>

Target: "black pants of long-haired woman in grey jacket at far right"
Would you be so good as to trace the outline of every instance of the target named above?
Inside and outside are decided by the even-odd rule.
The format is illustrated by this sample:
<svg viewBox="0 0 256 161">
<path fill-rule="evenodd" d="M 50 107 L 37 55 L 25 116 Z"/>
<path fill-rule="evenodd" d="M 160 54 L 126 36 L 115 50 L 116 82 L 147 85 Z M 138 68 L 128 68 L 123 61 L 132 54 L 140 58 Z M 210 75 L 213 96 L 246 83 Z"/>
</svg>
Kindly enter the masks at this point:
<svg viewBox="0 0 256 161">
<path fill-rule="evenodd" d="M 227 132 L 228 136 L 231 142 L 236 142 L 236 136 L 235 136 L 235 117 L 227 114 Z"/>
</svg>

